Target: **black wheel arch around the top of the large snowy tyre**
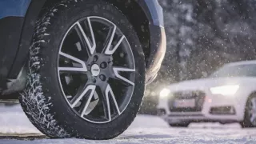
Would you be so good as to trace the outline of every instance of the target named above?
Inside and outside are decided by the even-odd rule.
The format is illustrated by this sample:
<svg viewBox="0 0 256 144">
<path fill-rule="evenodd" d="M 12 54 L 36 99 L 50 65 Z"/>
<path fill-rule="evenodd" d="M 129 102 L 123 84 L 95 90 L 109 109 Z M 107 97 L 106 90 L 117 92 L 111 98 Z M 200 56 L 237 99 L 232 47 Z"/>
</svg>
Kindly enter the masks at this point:
<svg viewBox="0 0 256 144">
<path fill-rule="evenodd" d="M 18 51 L 14 59 L 14 64 L 10 69 L 8 78 L 15 79 L 18 77 L 22 66 L 27 59 L 32 36 L 34 34 L 34 26 L 37 18 L 40 17 L 42 9 L 46 6 L 51 6 L 61 0 L 34 0 L 31 1 L 30 6 L 26 12 L 25 21 L 22 27 L 22 34 L 19 41 Z M 134 30 L 138 34 L 138 38 L 142 43 L 142 49 L 145 58 L 150 57 L 150 23 L 153 23 L 153 18 L 150 16 L 150 10 L 146 6 L 146 2 L 138 0 L 122 1 L 109 0 L 114 6 L 125 14 L 126 18 L 134 26 Z"/>
</svg>

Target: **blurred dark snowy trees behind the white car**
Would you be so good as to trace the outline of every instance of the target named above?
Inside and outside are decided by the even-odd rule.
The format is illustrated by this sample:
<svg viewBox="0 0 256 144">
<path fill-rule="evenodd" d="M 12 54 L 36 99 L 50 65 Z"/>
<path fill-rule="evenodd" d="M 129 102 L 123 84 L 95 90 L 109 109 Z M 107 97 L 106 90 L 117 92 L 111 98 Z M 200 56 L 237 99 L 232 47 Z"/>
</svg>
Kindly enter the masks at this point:
<svg viewBox="0 0 256 144">
<path fill-rule="evenodd" d="M 255 0 L 160 0 L 167 50 L 158 78 L 146 90 L 142 113 L 155 114 L 170 83 L 206 78 L 229 62 L 256 59 Z"/>
</svg>

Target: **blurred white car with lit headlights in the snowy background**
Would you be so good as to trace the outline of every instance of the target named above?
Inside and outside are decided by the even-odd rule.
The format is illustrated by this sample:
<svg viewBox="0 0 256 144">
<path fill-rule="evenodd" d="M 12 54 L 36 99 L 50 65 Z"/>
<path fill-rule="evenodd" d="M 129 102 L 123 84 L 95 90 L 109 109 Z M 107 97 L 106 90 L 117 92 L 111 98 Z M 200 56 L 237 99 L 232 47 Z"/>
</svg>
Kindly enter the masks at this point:
<svg viewBox="0 0 256 144">
<path fill-rule="evenodd" d="M 172 84 L 161 91 L 157 107 L 170 126 L 240 122 L 256 127 L 256 61 L 226 64 L 209 78 Z"/>
</svg>

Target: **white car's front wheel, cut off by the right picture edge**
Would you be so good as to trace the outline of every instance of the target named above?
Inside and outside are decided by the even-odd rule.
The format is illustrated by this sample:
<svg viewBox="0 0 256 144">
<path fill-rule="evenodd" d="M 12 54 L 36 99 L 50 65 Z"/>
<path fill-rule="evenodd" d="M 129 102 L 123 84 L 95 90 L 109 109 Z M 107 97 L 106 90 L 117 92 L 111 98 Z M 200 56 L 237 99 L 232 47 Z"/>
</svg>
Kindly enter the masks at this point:
<svg viewBox="0 0 256 144">
<path fill-rule="evenodd" d="M 256 95 L 250 96 L 246 102 L 245 118 L 240 122 L 244 128 L 256 127 Z"/>
</svg>

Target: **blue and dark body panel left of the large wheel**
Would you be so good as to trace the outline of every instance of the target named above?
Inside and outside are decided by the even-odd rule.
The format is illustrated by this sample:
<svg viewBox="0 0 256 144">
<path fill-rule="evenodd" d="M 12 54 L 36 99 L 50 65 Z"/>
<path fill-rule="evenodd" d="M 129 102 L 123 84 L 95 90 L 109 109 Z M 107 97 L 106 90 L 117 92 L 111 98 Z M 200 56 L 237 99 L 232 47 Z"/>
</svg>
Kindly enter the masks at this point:
<svg viewBox="0 0 256 144">
<path fill-rule="evenodd" d="M 5 83 L 18 50 L 19 39 L 30 0 L 0 1 L 0 85 Z"/>
</svg>

